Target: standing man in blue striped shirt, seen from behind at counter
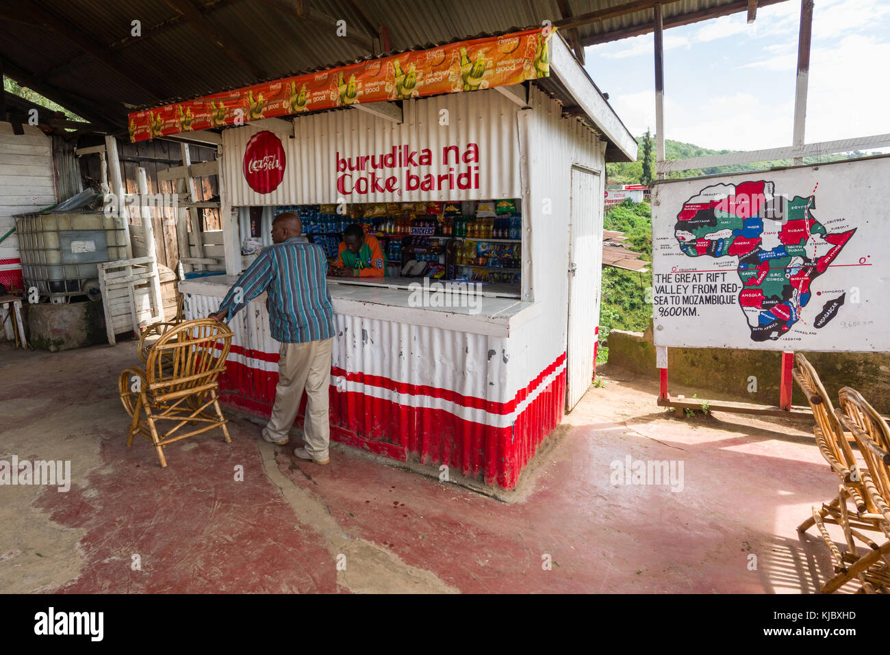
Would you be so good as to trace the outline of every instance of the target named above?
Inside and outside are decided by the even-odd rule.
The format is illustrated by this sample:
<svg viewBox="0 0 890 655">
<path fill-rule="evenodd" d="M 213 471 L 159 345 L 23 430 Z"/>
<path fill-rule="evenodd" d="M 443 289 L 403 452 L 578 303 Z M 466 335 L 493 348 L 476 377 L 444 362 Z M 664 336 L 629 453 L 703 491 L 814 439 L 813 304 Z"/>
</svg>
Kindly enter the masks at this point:
<svg viewBox="0 0 890 655">
<path fill-rule="evenodd" d="M 226 320 L 266 292 L 271 336 L 280 342 L 279 383 L 265 441 L 283 445 L 294 425 L 303 389 L 306 391 L 305 448 L 296 457 L 328 464 L 330 423 L 328 384 L 331 346 L 334 343 L 334 310 L 325 275 L 328 262 L 322 247 L 308 243 L 303 223 L 292 213 L 279 214 L 272 222 L 273 245 L 257 256 L 220 303 L 211 319 Z"/>
</svg>

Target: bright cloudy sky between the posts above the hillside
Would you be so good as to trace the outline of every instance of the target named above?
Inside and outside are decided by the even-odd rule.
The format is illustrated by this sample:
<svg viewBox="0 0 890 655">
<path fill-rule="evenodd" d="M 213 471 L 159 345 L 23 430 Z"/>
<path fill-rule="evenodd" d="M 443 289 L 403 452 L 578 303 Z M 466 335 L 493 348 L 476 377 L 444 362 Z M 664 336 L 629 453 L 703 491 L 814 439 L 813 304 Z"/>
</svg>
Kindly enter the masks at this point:
<svg viewBox="0 0 890 655">
<path fill-rule="evenodd" d="M 791 145 L 800 2 L 665 31 L 665 135 L 712 149 Z M 652 35 L 586 50 L 634 135 L 655 133 Z M 890 0 L 815 0 L 806 142 L 890 133 Z"/>
</svg>

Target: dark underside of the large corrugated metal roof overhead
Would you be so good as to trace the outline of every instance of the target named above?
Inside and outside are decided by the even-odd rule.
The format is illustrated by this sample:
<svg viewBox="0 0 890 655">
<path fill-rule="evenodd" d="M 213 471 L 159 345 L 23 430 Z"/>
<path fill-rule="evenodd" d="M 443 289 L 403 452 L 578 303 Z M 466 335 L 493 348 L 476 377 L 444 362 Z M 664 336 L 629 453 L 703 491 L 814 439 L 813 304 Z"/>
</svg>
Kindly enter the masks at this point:
<svg viewBox="0 0 890 655">
<path fill-rule="evenodd" d="M 198 9 L 199 20 L 191 21 L 170 6 L 186 1 Z M 778 1 L 760 0 L 760 4 Z M 49 0 L 29 2 L 43 12 L 29 12 L 15 0 L 0 0 L 0 57 L 7 75 L 24 74 L 36 91 L 80 115 L 123 126 L 133 107 L 158 106 L 380 54 L 379 40 L 368 49 L 336 36 L 336 20 L 346 21 L 347 36 L 368 42 L 369 27 L 385 26 L 390 50 L 405 51 L 481 33 L 530 28 L 543 20 L 557 22 L 566 18 L 560 4 L 578 16 L 628 0 L 304 0 L 316 15 L 328 17 L 320 22 L 295 15 L 295 3 L 287 0 L 170 0 L 170 4 L 66 0 L 52 7 Z M 677 16 L 747 4 L 746 0 L 663 3 L 666 24 Z M 40 27 L 53 20 L 49 16 L 69 26 L 83 42 L 94 44 L 98 52 L 88 53 L 77 38 Z M 649 8 L 583 25 L 577 28 L 578 37 L 585 43 L 620 35 L 628 28 L 645 28 L 651 16 Z M 142 21 L 142 38 L 131 36 L 133 20 Z M 217 34 L 225 47 L 214 43 L 208 31 Z"/>
</svg>

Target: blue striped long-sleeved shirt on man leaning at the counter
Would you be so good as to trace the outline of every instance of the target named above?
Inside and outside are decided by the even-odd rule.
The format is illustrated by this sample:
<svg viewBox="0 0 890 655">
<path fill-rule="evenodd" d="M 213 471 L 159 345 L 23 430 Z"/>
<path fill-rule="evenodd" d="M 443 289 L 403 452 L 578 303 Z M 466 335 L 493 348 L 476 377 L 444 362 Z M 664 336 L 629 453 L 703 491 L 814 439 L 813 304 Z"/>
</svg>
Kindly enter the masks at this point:
<svg viewBox="0 0 890 655">
<path fill-rule="evenodd" d="M 334 336 L 327 272 L 328 260 L 322 247 L 292 237 L 265 248 L 229 289 L 217 311 L 228 311 L 229 321 L 252 298 L 266 291 L 273 339 L 284 344 L 327 339 Z M 236 302 L 236 296 L 240 302 Z"/>
</svg>

